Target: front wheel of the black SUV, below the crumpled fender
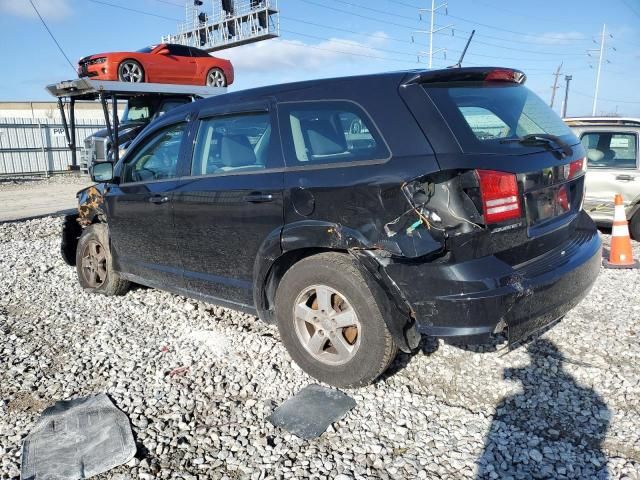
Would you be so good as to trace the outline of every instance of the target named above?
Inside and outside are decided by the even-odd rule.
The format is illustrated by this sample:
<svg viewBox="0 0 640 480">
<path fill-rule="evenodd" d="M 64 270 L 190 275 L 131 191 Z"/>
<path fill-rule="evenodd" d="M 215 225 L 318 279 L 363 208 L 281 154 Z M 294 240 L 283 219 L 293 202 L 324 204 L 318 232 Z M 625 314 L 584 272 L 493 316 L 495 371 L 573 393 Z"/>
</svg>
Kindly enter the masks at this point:
<svg viewBox="0 0 640 480">
<path fill-rule="evenodd" d="M 104 223 L 85 228 L 76 249 L 76 272 L 82 288 L 89 293 L 124 295 L 131 283 L 113 270 L 109 229 Z"/>
</svg>

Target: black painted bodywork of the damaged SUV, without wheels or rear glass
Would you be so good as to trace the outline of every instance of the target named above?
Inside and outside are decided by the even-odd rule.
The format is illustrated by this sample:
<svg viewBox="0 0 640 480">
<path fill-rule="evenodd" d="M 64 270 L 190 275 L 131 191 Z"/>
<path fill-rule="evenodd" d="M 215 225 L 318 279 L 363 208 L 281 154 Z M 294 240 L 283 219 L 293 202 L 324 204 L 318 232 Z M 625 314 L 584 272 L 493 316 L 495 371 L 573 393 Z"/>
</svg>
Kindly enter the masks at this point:
<svg viewBox="0 0 640 480">
<path fill-rule="evenodd" d="M 584 157 L 582 146 L 568 138 L 570 154 L 540 143 L 469 153 L 421 78 L 398 72 L 264 87 L 198 101 L 152 122 L 101 189 L 103 203 L 91 209 L 102 215 L 92 218 L 109 224 L 116 270 L 273 321 L 278 282 L 292 264 L 345 252 L 405 351 L 420 333 L 486 338 L 506 329 L 517 341 L 561 317 L 586 294 L 599 264 L 600 240 L 581 210 L 584 176 L 569 169 Z M 324 138 L 317 158 L 332 160 L 313 163 L 309 132 L 333 135 L 322 111 L 309 113 L 316 106 L 339 106 L 358 120 L 345 127 L 344 152 Z M 218 165 L 215 173 L 194 174 L 208 119 L 244 114 L 270 121 L 260 168 Z M 176 175 L 125 181 L 125 166 L 145 142 L 177 123 L 186 127 Z M 315 130 L 302 138 L 296 125 Z M 209 141 L 212 152 L 222 148 L 217 137 Z M 373 153 L 345 160 L 360 151 Z M 518 218 L 488 222 L 477 169 L 513 175 Z"/>
</svg>

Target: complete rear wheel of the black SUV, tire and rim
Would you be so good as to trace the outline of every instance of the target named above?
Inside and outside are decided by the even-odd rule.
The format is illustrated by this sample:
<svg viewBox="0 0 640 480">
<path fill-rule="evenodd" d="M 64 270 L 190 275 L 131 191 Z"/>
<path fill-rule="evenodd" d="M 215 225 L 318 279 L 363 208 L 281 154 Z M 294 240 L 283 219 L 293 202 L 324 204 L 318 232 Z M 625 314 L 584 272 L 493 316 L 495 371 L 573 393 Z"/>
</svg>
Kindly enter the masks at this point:
<svg viewBox="0 0 640 480">
<path fill-rule="evenodd" d="M 398 351 L 375 298 L 348 255 L 322 253 L 293 265 L 276 292 L 278 330 L 291 358 L 335 387 L 373 382 Z"/>
</svg>

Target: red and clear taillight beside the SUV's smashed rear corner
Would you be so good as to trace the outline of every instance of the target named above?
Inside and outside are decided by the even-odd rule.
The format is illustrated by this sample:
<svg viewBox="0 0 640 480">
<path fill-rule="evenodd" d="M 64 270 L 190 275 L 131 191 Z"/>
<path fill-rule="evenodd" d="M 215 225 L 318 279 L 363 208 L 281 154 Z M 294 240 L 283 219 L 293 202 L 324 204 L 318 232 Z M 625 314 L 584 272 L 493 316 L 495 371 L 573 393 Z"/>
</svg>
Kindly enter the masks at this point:
<svg viewBox="0 0 640 480">
<path fill-rule="evenodd" d="M 522 216 L 518 182 L 512 173 L 477 170 L 485 223 L 498 223 Z"/>
</svg>

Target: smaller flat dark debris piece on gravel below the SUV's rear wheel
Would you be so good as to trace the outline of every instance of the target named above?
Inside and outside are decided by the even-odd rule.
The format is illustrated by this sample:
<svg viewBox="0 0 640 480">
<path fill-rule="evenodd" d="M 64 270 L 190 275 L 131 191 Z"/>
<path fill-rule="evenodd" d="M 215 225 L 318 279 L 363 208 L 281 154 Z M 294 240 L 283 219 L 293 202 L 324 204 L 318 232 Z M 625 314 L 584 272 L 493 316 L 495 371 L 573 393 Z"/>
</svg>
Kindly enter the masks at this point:
<svg viewBox="0 0 640 480">
<path fill-rule="evenodd" d="M 310 440 L 356 406 L 349 395 L 320 385 L 308 385 L 284 402 L 269 416 L 276 427 Z"/>
</svg>

